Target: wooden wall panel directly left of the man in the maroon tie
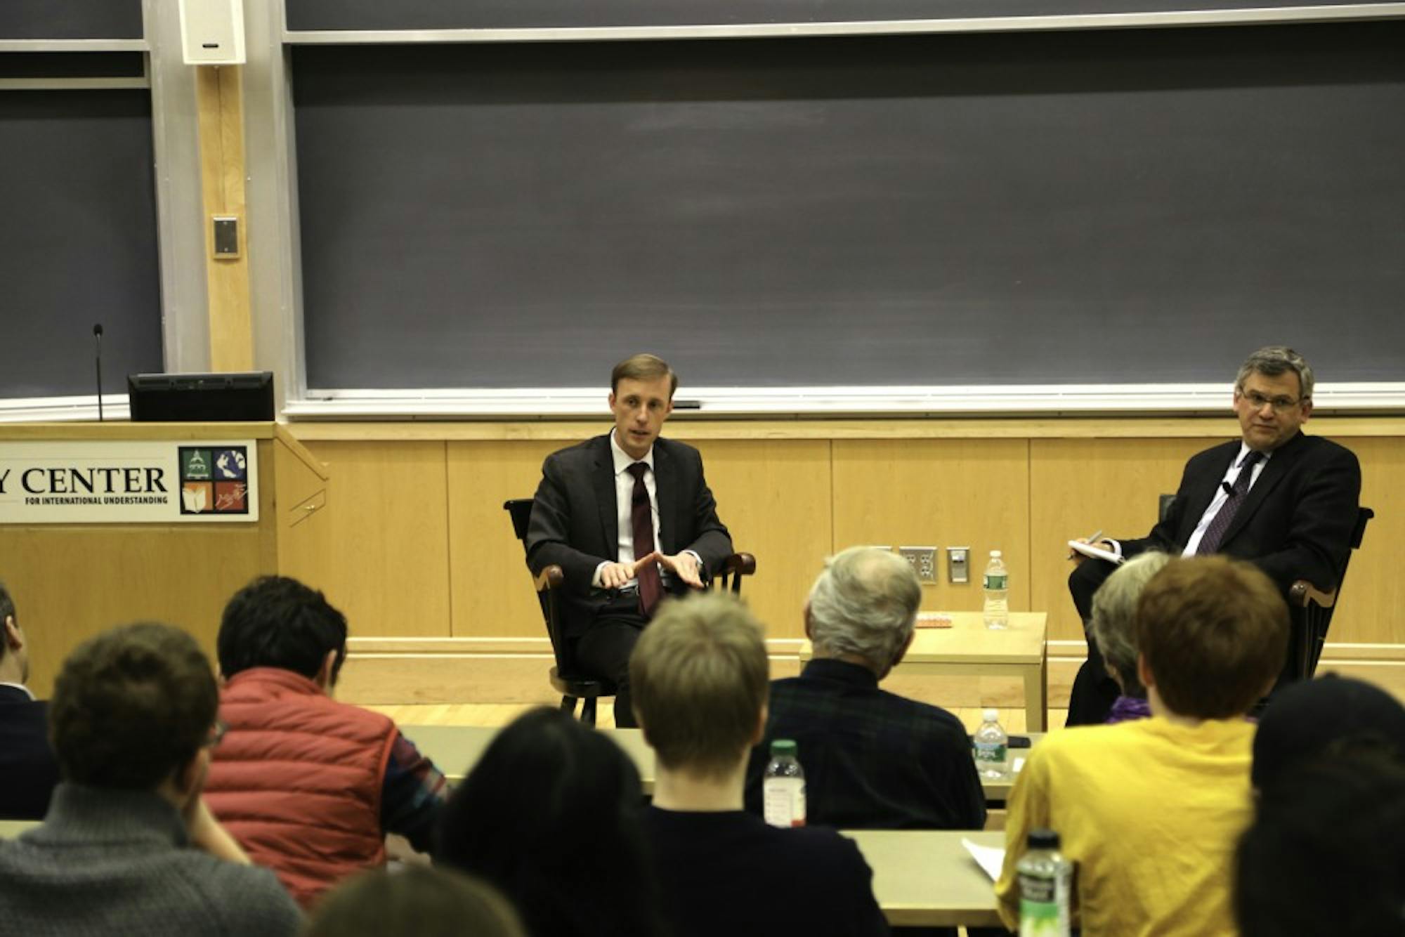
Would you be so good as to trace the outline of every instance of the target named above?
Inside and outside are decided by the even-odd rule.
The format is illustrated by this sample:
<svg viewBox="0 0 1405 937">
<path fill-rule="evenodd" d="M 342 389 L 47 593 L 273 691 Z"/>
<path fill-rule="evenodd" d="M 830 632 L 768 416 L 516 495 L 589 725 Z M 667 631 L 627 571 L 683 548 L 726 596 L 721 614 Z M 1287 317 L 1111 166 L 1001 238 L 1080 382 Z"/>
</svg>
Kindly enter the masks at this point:
<svg viewBox="0 0 1405 937">
<path fill-rule="evenodd" d="M 541 462 L 565 444 L 450 443 L 448 538 L 452 635 L 545 638 L 521 544 L 503 502 L 531 497 Z"/>
</svg>

